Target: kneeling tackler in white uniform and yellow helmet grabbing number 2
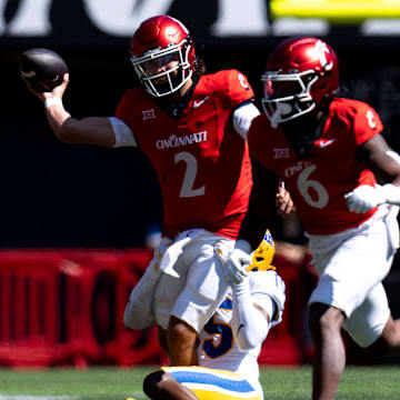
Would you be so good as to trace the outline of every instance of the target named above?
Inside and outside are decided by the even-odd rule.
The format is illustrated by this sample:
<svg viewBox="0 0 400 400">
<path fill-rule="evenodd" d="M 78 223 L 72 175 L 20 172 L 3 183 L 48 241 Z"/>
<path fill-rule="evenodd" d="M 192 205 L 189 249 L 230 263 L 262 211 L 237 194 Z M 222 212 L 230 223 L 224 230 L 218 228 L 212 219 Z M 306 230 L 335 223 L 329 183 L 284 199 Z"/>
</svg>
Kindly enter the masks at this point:
<svg viewBox="0 0 400 400">
<path fill-rule="evenodd" d="M 263 399 L 257 359 L 269 329 L 281 321 L 284 283 L 271 264 L 274 243 L 269 231 L 246 273 L 227 268 L 228 253 L 221 242 L 217 254 L 231 289 L 200 331 L 199 367 L 162 367 L 149 374 L 143 390 L 151 399 Z M 151 278 L 146 272 L 146 280 L 152 279 L 154 286 L 162 274 L 158 264 L 152 264 Z M 151 323 L 150 296 L 140 286 L 133 289 L 124 314 L 132 329 Z"/>
</svg>

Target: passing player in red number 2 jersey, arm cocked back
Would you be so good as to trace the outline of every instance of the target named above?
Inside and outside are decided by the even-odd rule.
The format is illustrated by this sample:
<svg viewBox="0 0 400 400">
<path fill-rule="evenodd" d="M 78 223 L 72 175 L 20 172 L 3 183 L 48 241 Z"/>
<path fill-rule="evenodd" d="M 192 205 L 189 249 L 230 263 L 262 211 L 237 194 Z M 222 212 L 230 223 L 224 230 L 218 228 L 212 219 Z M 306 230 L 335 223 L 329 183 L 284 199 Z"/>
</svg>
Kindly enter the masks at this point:
<svg viewBox="0 0 400 400">
<path fill-rule="evenodd" d="M 139 147 L 153 166 L 164 213 L 153 262 L 166 272 L 153 293 L 156 321 L 167 331 L 171 364 L 190 364 L 197 362 L 197 333 L 228 290 L 213 250 L 220 241 L 233 246 L 248 208 L 246 139 L 259 111 L 241 72 L 197 73 L 193 40 L 169 16 L 143 21 L 130 50 L 141 87 L 126 91 L 114 117 L 72 118 L 62 104 L 67 74 L 52 92 L 33 92 L 60 140 Z M 287 194 L 279 189 L 282 212 L 290 209 Z"/>
</svg>

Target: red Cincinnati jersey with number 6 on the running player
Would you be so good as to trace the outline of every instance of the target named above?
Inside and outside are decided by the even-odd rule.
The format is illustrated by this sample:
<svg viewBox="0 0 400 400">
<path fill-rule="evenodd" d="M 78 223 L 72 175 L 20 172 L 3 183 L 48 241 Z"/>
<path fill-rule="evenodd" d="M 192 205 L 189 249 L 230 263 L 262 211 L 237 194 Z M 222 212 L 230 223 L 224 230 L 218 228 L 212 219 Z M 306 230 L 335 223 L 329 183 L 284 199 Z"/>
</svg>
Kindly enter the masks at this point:
<svg viewBox="0 0 400 400">
<path fill-rule="evenodd" d="M 379 116 L 367 103 L 338 98 L 307 158 L 296 154 L 282 130 L 273 129 L 266 114 L 253 120 L 248 141 L 250 153 L 286 182 L 304 230 L 330 234 L 357 227 L 377 211 L 350 212 L 344 194 L 377 182 L 366 163 L 356 159 L 356 149 L 382 129 Z"/>
</svg>

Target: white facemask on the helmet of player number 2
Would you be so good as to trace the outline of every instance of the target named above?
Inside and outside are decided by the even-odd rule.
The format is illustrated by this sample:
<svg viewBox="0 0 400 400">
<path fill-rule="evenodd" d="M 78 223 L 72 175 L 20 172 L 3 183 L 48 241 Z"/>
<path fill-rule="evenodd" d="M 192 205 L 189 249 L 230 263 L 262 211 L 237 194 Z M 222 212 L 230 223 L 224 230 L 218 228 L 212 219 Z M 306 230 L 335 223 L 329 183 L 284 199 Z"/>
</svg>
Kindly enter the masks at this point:
<svg viewBox="0 0 400 400">
<path fill-rule="evenodd" d="M 189 62 L 190 51 L 191 44 L 188 39 L 183 39 L 180 43 L 169 44 L 164 49 L 148 50 L 142 57 L 132 54 L 131 62 L 146 91 L 154 97 L 163 97 L 179 90 L 191 78 L 193 70 Z M 177 61 L 172 68 L 149 74 L 149 63 L 158 62 L 162 67 L 171 60 Z"/>
</svg>

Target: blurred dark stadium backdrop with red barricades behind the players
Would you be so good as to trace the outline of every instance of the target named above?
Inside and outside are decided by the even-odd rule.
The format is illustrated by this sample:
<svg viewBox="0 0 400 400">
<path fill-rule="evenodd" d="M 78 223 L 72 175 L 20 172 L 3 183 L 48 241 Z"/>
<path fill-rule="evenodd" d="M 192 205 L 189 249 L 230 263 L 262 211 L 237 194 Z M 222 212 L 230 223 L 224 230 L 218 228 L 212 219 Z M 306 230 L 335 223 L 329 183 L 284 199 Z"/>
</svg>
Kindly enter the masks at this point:
<svg viewBox="0 0 400 400">
<path fill-rule="evenodd" d="M 27 357 L 16 361 L 16 353 L 29 346 L 42 349 L 44 364 L 164 360 L 147 353 L 156 341 L 152 331 L 133 337 L 121 327 L 127 296 L 146 267 L 162 219 L 152 168 L 136 149 L 71 147 L 56 140 L 42 104 L 28 92 L 18 68 L 24 50 L 49 48 L 70 69 L 66 108 L 77 118 L 113 116 L 124 90 L 137 84 L 129 61 L 130 37 L 142 20 L 163 13 L 190 29 L 209 72 L 239 69 L 248 76 L 257 100 L 260 76 L 274 46 L 291 36 L 322 38 L 339 56 L 341 96 L 374 107 L 386 138 L 400 151 L 397 0 L 0 0 L 2 364 L 27 363 Z M 288 303 L 288 322 L 271 337 L 263 361 L 308 362 L 312 343 L 303 312 L 314 274 L 296 218 L 284 224 L 277 221 L 273 228 L 274 238 L 284 243 L 277 262 L 294 300 Z M 398 264 L 396 260 L 386 282 L 394 317 L 400 314 Z M 81 303 L 69 307 L 70 297 Z M 58 312 L 48 310 L 49 304 Z M 17 310 L 26 317 L 17 320 Z M 272 340 L 286 340 L 288 354 L 277 358 L 271 348 L 279 346 Z M 47 352 L 54 343 L 57 356 Z M 350 361 L 363 362 L 348 343 Z M 40 364 L 34 359 L 30 362 Z"/>
</svg>

